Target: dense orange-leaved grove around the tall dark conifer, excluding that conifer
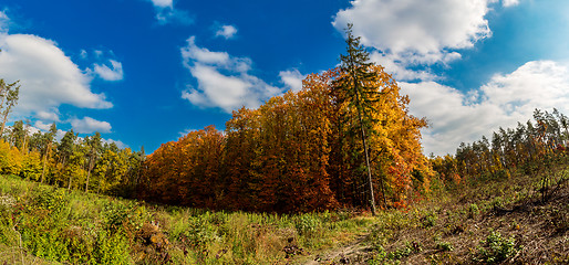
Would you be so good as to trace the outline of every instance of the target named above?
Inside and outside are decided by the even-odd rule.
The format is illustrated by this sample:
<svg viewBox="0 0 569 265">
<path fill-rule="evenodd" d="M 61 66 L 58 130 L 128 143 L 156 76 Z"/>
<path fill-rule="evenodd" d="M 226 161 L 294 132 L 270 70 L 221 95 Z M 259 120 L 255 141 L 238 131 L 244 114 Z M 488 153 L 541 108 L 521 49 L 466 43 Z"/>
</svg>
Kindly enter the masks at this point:
<svg viewBox="0 0 569 265">
<path fill-rule="evenodd" d="M 381 66 L 369 142 L 373 188 L 390 205 L 428 189 L 422 155 L 425 120 L 408 115 L 408 98 Z M 366 206 L 355 109 L 333 92 L 339 68 L 304 78 L 303 88 L 232 113 L 225 132 L 214 127 L 164 144 L 147 157 L 138 194 L 210 209 L 309 212 Z M 420 173 L 417 173 L 420 172 Z M 421 178 L 415 178 L 421 176 Z M 383 182 L 382 182 L 383 181 Z M 384 183 L 384 184 L 380 184 Z"/>
</svg>

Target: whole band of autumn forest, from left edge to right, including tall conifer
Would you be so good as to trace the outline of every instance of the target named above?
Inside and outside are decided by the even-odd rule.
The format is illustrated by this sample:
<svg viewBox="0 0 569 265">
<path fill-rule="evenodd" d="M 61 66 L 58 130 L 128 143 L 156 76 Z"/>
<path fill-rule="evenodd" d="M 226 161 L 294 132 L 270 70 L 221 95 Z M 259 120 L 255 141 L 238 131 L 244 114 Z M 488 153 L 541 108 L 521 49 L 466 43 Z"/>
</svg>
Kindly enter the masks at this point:
<svg viewBox="0 0 569 265">
<path fill-rule="evenodd" d="M 517 167 L 535 171 L 536 161 L 565 150 L 567 117 L 536 110 L 535 123 L 463 144 L 455 156 L 426 157 L 421 129 L 427 119 L 408 114 L 396 81 L 369 62 L 350 28 L 346 33 L 339 67 L 308 75 L 301 91 L 235 110 L 223 131 L 208 126 L 146 156 L 104 144 L 100 134 L 70 130 L 56 141 L 55 124 L 30 134 L 21 120 L 0 140 L 1 173 L 211 210 L 375 212 L 406 208 L 428 197 L 433 183 L 509 176 Z M 1 87 L 4 130 L 20 86 L 2 81 Z"/>
</svg>

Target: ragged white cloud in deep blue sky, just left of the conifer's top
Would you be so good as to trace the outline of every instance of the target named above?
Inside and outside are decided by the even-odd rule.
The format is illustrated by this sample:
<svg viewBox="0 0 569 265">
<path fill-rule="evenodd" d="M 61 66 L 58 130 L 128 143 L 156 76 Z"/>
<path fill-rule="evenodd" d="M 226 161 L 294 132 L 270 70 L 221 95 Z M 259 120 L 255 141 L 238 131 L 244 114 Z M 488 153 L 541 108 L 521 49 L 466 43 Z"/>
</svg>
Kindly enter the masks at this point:
<svg viewBox="0 0 569 265">
<path fill-rule="evenodd" d="M 200 107 L 219 107 L 227 113 L 258 107 L 263 100 L 282 93 L 281 88 L 250 75 L 251 61 L 226 52 L 199 47 L 192 36 L 182 49 L 184 66 L 197 80 L 198 87 L 188 86 L 182 98 Z"/>
</svg>

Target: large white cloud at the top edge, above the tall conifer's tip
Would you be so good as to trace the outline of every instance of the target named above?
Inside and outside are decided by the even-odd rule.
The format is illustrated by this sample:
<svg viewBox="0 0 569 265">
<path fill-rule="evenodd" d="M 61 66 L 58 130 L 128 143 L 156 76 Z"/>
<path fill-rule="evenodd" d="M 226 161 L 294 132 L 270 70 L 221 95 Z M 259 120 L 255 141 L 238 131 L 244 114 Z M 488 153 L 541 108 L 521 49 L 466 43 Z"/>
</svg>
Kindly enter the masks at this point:
<svg viewBox="0 0 569 265">
<path fill-rule="evenodd" d="M 472 47 L 492 34 L 488 0 L 354 0 L 332 24 L 353 23 L 362 44 L 418 62 L 438 61 L 446 49 Z"/>
</svg>

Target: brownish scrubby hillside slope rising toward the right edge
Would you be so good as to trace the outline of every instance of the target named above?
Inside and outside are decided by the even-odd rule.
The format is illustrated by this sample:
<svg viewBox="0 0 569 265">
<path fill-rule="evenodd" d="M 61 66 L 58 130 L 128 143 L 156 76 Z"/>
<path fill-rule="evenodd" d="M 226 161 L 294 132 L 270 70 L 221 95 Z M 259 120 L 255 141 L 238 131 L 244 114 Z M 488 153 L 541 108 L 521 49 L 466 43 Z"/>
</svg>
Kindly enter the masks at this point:
<svg viewBox="0 0 569 265">
<path fill-rule="evenodd" d="M 480 178 L 382 212 L 364 240 L 306 264 L 569 264 L 568 172 L 555 172 L 546 190 L 544 176 Z"/>
</svg>

